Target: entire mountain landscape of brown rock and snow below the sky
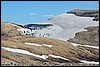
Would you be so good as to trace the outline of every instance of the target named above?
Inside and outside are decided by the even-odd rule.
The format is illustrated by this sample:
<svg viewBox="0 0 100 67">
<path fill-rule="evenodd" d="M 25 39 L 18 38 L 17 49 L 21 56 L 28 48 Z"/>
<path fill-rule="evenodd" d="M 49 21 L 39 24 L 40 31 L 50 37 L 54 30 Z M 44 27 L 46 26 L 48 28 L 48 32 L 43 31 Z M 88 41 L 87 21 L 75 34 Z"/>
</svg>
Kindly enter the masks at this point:
<svg viewBox="0 0 100 67">
<path fill-rule="evenodd" d="M 39 24 L 1 22 L 1 65 L 99 66 L 98 19 L 97 10 L 72 10 Z"/>
</svg>

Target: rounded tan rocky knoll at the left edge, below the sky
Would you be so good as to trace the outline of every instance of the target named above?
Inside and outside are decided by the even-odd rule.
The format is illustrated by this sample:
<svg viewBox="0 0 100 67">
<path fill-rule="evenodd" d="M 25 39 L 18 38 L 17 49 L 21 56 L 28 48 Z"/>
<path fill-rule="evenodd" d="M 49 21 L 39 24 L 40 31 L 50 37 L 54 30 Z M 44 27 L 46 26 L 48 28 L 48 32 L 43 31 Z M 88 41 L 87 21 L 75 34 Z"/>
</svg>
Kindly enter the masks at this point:
<svg viewBox="0 0 100 67">
<path fill-rule="evenodd" d="M 11 22 L 1 22 L 1 36 L 20 36 L 23 35 L 17 29 L 22 28 Z"/>
</svg>

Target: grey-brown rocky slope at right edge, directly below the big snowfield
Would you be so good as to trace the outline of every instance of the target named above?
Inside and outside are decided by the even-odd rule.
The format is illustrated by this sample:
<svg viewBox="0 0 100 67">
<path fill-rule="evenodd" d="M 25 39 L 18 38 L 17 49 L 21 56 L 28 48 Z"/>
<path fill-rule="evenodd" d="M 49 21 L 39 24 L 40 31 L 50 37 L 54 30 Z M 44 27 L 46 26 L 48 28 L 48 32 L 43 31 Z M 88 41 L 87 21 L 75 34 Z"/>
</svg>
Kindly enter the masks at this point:
<svg viewBox="0 0 100 67">
<path fill-rule="evenodd" d="M 99 46 L 99 26 L 91 26 L 85 29 L 87 29 L 87 31 L 76 33 L 75 37 L 70 38 L 68 41 Z"/>
</svg>

